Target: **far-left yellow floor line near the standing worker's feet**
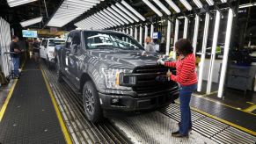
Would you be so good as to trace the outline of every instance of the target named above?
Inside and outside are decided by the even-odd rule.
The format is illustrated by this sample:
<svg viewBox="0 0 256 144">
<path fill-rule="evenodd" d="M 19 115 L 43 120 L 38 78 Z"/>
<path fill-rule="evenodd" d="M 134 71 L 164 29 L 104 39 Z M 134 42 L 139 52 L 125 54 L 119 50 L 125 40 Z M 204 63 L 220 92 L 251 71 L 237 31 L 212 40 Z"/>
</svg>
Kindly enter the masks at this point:
<svg viewBox="0 0 256 144">
<path fill-rule="evenodd" d="M 25 62 L 22 63 L 21 71 L 23 70 L 24 66 L 25 66 Z M 14 90 L 17 82 L 18 82 L 18 79 L 14 80 L 14 83 L 11 86 L 11 90 L 9 91 L 9 93 L 8 93 L 8 95 L 7 95 L 7 97 L 6 97 L 5 101 L 4 101 L 4 104 L 3 104 L 2 108 L 1 108 L 1 111 L 0 111 L 0 122 L 2 121 L 2 119 L 4 117 L 4 112 L 7 109 L 7 106 L 9 104 L 9 101 L 11 99 L 13 90 Z"/>
</svg>

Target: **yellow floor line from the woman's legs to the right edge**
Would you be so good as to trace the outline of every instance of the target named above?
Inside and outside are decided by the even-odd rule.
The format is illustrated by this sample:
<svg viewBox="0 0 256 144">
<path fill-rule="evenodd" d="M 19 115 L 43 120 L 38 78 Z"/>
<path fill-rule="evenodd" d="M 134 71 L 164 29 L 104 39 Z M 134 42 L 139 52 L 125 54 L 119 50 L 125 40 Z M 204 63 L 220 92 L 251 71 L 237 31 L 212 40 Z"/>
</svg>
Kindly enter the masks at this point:
<svg viewBox="0 0 256 144">
<path fill-rule="evenodd" d="M 178 104 L 179 104 L 179 102 L 178 102 Z M 198 109 L 196 109 L 196 108 L 194 108 L 194 107 L 191 107 L 191 106 L 190 106 L 190 108 L 191 108 L 191 110 L 193 110 L 194 112 L 199 112 L 199 113 L 201 113 L 201 114 L 203 114 L 203 115 L 205 115 L 205 116 L 207 116 L 207 117 L 209 117 L 209 118 L 211 118 L 211 119 L 216 119 L 216 120 L 218 120 L 218 121 L 220 121 L 220 122 L 223 122 L 224 124 L 227 124 L 227 125 L 229 125 L 229 126 L 236 127 L 236 128 L 238 128 L 239 130 L 244 131 L 245 133 L 250 133 L 250 134 L 256 136 L 256 132 L 254 132 L 254 131 L 252 131 L 252 130 L 249 130 L 249 129 L 243 127 L 243 126 L 238 126 L 238 125 L 236 125 L 236 124 L 234 124 L 234 123 L 231 123 L 230 121 L 217 118 L 216 116 L 213 116 L 213 115 L 211 115 L 211 114 L 208 114 L 207 112 L 202 112 L 201 110 L 198 110 Z"/>
</svg>

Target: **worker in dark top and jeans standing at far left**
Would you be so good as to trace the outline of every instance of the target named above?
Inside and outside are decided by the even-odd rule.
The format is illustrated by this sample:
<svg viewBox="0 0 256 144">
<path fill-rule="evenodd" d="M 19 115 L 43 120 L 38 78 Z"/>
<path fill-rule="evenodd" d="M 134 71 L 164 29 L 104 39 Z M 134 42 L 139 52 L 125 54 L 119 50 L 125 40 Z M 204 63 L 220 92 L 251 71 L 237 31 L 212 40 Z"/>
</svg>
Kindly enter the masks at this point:
<svg viewBox="0 0 256 144">
<path fill-rule="evenodd" d="M 18 78 L 20 75 L 18 71 L 19 57 L 20 57 L 20 54 L 24 51 L 18 47 L 17 42 L 18 42 L 18 37 L 13 35 L 12 41 L 10 44 L 10 52 L 14 53 L 14 54 L 11 54 L 11 61 L 13 62 L 13 73 L 15 78 Z"/>
</svg>

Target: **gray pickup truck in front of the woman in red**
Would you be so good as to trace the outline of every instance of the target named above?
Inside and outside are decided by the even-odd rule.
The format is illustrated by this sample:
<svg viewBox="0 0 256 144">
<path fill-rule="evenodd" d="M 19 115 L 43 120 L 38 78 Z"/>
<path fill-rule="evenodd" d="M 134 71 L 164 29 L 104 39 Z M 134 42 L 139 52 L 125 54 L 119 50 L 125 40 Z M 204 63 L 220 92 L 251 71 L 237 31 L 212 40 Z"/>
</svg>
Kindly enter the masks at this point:
<svg viewBox="0 0 256 144">
<path fill-rule="evenodd" d="M 55 49 L 59 82 L 83 97 L 92 122 L 103 119 L 103 111 L 156 110 L 179 96 L 177 83 L 157 80 L 168 71 L 157 65 L 158 54 L 145 52 L 127 34 L 74 30 Z"/>
</svg>

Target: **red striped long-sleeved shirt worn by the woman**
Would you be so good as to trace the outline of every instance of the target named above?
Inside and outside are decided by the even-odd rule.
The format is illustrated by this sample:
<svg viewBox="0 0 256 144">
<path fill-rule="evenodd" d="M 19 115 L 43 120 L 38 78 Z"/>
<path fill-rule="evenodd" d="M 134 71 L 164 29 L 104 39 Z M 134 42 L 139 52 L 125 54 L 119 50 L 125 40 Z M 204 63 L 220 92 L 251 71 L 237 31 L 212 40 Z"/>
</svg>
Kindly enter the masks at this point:
<svg viewBox="0 0 256 144">
<path fill-rule="evenodd" d="M 165 66 L 176 68 L 176 76 L 171 76 L 172 81 L 175 81 L 182 86 L 197 83 L 194 54 L 188 54 L 183 59 L 179 56 L 178 61 L 165 61 Z"/>
</svg>

